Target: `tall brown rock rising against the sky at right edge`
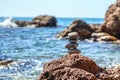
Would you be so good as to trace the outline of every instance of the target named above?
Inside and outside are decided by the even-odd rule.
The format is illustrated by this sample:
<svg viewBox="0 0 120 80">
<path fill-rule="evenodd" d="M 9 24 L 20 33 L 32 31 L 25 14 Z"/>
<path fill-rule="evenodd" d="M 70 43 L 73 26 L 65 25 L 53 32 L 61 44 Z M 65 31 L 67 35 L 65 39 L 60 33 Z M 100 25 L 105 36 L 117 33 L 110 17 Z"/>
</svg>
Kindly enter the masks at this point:
<svg viewBox="0 0 120 80">
<path fill-rule="evenodd" d="M 109 7 L 100 30 L 120 39 L 120 0 Z"/>
</svg>

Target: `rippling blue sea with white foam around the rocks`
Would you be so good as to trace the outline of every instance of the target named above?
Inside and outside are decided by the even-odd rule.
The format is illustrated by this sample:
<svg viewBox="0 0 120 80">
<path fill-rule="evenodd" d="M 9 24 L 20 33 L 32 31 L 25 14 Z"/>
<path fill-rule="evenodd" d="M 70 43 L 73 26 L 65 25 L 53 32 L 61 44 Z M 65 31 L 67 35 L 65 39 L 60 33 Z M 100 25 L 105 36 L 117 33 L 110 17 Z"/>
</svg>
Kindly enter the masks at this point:
<svg viewBox="0 0 120 80">
<path fill-rule="evenodd" d="M 0 22 L 5 17 L 0 17 Z M 14 17 L 13 20 L 31 21 L 32 17 Z M 57 27 L 2 28 L 0 27 L 0 60 L 15 62 L 0 66 L 0 80 L 36 80 L 43 65 L 67 54 L 65 39 L 55 36 L 75 19 L 89 24 L 103 23 L 102 18 L 57 18 Z M 81 54 L 93 59 L 99 66 L 110 68 L 120 64 L 120 45 L 79 41 Z"/>
</svg>

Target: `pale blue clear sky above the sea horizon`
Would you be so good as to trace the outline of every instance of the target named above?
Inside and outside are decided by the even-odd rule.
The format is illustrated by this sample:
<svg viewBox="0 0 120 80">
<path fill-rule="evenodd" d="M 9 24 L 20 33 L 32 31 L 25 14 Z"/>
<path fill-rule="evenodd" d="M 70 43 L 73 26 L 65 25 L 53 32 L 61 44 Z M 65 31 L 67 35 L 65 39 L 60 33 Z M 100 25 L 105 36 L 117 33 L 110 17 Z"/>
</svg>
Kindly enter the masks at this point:
<svg viewBox="0 0 120 80">
<path fill-rule="evenodd" d="M 0 0 L 0 16 L 104 18 L 108 6 L 116 0 Z"/>
</svg>

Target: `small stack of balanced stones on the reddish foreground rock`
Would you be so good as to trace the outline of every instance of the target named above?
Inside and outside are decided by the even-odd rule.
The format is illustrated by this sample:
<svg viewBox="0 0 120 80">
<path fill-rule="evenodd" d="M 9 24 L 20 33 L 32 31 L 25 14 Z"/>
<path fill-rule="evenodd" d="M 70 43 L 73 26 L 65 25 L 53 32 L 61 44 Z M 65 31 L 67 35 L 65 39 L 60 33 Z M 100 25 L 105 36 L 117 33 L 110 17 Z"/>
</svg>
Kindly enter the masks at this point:
<svg viewBox="0 0 120 80">
<path fill-rule="evenodd" d="M 69 43 L 65 46 L 68 49 L 69 54 L 79 54 L 81 51 L 77 49 L 78 47 L 78 33 L 71 32 L 68 34 Z"/>
</svg>

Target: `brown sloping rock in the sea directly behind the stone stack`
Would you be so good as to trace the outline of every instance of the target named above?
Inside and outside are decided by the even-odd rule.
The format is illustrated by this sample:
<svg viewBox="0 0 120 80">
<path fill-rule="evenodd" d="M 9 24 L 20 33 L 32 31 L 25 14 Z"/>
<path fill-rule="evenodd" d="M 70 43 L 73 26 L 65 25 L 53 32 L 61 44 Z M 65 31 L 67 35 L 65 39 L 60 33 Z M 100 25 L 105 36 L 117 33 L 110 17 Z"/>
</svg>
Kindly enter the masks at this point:
<svg viewBox="0 0 120 80">
<path fill-rule="evenodd" d="M 91 27 L 82 20 L 75 20 L 72 22 L 70 26 L 68 26 L 65 30 L 60 32 L 57 37 L 63 38 L 68 35 L 70 32 L 77 32 L 80 39 L 90 38 L 92 33 Z"/>
</svg>

